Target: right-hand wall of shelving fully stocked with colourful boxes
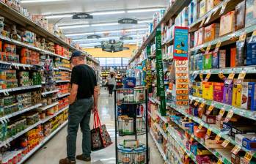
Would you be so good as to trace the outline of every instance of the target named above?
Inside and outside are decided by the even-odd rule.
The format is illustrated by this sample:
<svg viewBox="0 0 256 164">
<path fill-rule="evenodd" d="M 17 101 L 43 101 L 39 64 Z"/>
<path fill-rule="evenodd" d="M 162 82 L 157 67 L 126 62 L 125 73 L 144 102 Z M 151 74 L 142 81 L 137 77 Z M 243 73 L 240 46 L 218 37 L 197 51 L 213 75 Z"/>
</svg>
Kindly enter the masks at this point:
<svg viewBox="0 0 256 164">
<path fill-rule="evenodd" d="M 166 163 L 184 163 L 184 156 L 189 163 L 255 163 L 255 4 L 191 0 L 179 12 L 167 11 L 159 21 L 161 28 L 150 33 L 131 59 L 133 69 L 153 62 L 153 87 L 159 89 L 158 77 L 164 76 L 167 115 L 154 88 L 149 115 L 151 133 L 160 138 L 156 144 Z M 172 15 L 169 20 L 167 15 Z M 189 29 L 189 56 L 183 67 L 175 59 L 179 26 Z M 161 64 L 163 72 L 158 70 Z"/>
</svg>

